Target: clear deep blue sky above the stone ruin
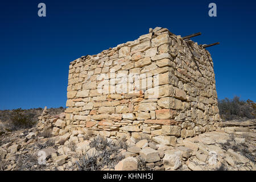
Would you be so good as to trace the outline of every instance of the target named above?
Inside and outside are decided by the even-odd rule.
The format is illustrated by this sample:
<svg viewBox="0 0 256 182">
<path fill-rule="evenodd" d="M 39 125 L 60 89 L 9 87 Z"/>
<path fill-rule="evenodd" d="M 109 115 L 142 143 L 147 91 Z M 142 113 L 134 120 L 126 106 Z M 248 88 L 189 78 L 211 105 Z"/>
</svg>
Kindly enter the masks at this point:
<svg viewBox="0 0 256 182">
<path fill-rule="evenodd" d="M 46 17 L 38 4 L 46 4 Z M 208 5 L 217 5 L 217 17 Z M 0 109 L 65 107 L 69 63 L 165 27 L 207 48 L 218 98 L 256 101 L 256 1 L 1 1 Z"/>
</svg>

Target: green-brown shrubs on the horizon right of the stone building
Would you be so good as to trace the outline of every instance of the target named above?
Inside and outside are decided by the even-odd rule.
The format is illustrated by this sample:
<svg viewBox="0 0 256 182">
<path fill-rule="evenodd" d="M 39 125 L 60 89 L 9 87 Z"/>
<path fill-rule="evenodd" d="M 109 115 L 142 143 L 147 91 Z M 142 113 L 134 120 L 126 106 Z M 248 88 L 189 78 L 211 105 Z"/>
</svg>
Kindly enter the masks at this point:
<svg viewBox="0 0 256 182">
<path fill-rule="evenodd" d="M 218 100 L 218 109 L 220 116 L 224 120 L 255 118 L 255 104 L 253 101 L 242 101 L 240 97 L 235 96 L 233 99 L 225 98 Z"/>
</svg>

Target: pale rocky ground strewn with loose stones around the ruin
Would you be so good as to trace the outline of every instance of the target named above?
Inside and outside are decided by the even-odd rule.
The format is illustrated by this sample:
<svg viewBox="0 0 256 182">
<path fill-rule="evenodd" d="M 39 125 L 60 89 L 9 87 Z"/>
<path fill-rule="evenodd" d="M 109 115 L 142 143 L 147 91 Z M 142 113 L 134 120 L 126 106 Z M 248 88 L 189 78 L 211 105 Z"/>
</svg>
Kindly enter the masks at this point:
<svg viewBox="0 0 256 182">
<path fill-rule="evenodd" d="M 109 139 L 87 131 L 55 136 L 65 114 L 42 117 L 38 126 L 0 136 L 0 170 L 236 170 L 254 171 L 256 120 L 220 123 L 220 129 L 176 146 L 149 139 Z M 39 117 L 40 118 L 40 117 Z M 56 129 L 55 129 L 56 130 Z"/>
</svg>

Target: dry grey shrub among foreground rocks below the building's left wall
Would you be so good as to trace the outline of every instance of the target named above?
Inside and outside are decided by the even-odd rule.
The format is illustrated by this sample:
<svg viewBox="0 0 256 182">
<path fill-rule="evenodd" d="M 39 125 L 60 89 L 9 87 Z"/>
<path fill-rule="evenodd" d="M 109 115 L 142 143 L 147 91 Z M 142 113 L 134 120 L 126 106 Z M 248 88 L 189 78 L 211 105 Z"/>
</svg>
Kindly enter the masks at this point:
<svg viewBox="0 0 256 182">
<path fill-rule="evenodd" d="M 102 168 L 114 168 L 115 165 L 124 158 L 120 154 L 124 144 L 112 142 L 105 137 L 94 137 L 90 142 L 90 147 L 96 148 L 97 152 L 86 154 L 76 162 L 80 171 L 99 171 Z"/>
</svg>

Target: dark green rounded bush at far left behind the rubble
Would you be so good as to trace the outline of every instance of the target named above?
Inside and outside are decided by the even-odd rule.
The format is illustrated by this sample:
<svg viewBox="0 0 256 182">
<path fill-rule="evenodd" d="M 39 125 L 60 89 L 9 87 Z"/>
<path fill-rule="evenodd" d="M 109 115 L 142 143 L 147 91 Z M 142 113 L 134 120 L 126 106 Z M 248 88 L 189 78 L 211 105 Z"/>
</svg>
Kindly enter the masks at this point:
<svg viewBox="0 0 256 182">
<path fill-rule="evenodd" d="M 20 130 L 31 128 L 36 122 L 32 121 L 33 114 L 25 114 L 22 109 L 15 109 L 11 112 L 10 123 L 8 125 L 10 130 Z"/>
</svg>

